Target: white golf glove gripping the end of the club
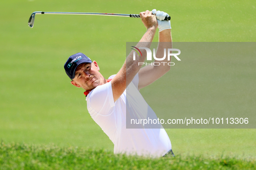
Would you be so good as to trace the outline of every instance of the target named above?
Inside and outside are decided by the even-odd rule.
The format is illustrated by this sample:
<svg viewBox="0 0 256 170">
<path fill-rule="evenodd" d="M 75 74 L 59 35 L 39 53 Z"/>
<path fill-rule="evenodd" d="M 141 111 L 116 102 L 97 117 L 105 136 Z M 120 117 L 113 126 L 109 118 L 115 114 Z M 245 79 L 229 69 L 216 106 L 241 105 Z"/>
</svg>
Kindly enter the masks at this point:
<svg viewBox="0 0 256 170">
<path fill-rule="evenodd" d="M 171 21 L 165 21 L 165 16 L 169 16 L 168 13 L 163 11 L 156 11 L 156 9 L 152 10 L 152 14 L 156 14 L 156 19 L 158 23 L 159 32 L 165 29 L 171 29 Z"/>
</svg>

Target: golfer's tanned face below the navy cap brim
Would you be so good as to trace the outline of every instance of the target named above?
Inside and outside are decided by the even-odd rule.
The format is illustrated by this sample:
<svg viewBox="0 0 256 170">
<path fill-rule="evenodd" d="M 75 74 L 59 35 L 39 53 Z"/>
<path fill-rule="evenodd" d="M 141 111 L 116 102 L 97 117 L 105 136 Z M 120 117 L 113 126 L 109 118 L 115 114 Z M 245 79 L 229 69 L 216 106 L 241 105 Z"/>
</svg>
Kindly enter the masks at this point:
<svg viewBox="0 0 256 170">
<path fill-rule="evenodd" d="M 100 68 L 96 61 L 92 63 L 82 63 L 75 70 L 75 78 L 71 81 L 72 85 L 84 90 L 92 90 L 98 85 L 104 84 L 104 77 L 99 72 Z"/>
</svg>

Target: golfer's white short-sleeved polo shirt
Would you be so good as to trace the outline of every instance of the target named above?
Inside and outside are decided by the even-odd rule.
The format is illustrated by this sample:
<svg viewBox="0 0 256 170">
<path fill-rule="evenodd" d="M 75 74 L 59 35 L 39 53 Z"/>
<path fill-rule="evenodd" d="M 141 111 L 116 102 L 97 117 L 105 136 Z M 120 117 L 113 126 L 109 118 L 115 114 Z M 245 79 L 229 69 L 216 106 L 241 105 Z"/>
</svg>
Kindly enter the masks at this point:
<svg viewBox="0 0 256 170">
<path fill-rule="evenodd" d="M 87 109 L 93 120 L 113 142 L 114 154 L 160 157 L 172 148 L 162 125 L 159 125 L 158 129 L 126 129 L 126 114 L 135 119 L 147 119 L 147 115 L 156 117 L 156 113 L 139 93 L 138 84 L 137 74 L 116 102 L 113 100 L 111 82 L 99 85 L 87 95 Z"/>
</svg>

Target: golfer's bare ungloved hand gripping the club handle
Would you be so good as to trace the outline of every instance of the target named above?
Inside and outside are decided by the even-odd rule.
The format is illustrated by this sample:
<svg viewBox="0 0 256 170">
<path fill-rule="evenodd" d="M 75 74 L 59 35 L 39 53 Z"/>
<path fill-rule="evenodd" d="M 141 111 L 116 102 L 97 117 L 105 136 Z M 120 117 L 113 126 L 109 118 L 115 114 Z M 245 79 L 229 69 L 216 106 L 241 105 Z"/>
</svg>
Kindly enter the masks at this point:
<svg viewBox="0 0 256 170">
<path fill-rule="evenodd" d="M 146 10 L 145 12 L 139 13 L 139 16 L 147 29 L 157 28 L 156 16 L 152 15 L 152 11 Z"/>
</svg>

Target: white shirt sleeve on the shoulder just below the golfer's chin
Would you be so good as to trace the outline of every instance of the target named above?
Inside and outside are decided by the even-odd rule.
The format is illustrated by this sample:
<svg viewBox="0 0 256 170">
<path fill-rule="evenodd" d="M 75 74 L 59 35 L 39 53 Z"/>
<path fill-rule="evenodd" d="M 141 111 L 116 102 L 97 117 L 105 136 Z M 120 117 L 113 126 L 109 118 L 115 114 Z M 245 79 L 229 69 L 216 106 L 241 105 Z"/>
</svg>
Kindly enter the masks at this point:
<svg viewBox="0 0 256 170">
<path fill-rule="evenodd" d="M 87 95 L 87 108 L 96 113 L 108 115 L 115 106 L 111 82 L 99 85 Z M 104 110 L 102 110 L 104 108 Z"/>
</svg>

